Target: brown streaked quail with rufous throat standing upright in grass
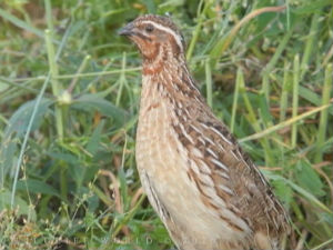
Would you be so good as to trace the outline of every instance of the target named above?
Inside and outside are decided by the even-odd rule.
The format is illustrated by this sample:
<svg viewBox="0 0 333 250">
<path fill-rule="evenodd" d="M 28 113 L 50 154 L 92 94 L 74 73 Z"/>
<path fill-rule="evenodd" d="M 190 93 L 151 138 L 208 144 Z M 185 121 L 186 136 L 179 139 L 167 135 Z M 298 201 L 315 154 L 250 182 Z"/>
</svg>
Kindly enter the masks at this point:
<svg viewBox="0 0 333 250">
<path fill-rule="evenodd" d="M 143 57 L 137 163 L 148 198 L 179 249 L 278 249 L 283 207 L 188 70 L 184 41 L 165 17 L 124 27 Z"/>
</svg>

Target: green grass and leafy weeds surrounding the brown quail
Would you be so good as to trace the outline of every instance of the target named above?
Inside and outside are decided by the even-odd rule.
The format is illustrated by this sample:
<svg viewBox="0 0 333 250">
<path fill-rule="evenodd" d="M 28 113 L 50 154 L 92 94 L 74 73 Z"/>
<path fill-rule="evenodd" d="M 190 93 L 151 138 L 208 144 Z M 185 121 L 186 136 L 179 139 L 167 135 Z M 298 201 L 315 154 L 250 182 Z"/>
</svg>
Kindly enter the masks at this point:
<svg viewBox="0 0 333 250">
<path fill-rule="evenodd" d="M 140 54 L 117 34 L 167 12 L 289 210 L 285 249 L 333 248 L 332 0 L 1 0 L 1 250 L 173 247 L 135 169 Z"/>
</svg>

